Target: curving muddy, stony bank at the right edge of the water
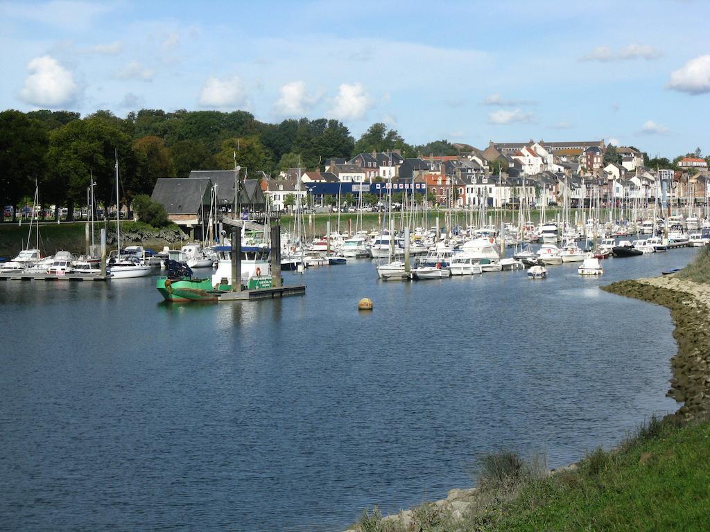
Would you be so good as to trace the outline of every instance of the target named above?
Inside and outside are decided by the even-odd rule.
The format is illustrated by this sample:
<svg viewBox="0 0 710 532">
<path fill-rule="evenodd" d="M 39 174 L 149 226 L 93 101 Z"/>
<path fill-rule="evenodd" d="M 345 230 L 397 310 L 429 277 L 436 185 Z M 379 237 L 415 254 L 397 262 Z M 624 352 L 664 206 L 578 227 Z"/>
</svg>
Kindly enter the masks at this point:
<svg viewBox="0 0 710 532">
<path fill-rule="evenodd" d="M 666 395 L 682 403 L 672 415 L 690 420 L 710 411 L 710 285 L 668 276 L 620 281 L 602 289 L 670 310 L 678 351 L 670 360 L 673 376 Z"/>
</svg>

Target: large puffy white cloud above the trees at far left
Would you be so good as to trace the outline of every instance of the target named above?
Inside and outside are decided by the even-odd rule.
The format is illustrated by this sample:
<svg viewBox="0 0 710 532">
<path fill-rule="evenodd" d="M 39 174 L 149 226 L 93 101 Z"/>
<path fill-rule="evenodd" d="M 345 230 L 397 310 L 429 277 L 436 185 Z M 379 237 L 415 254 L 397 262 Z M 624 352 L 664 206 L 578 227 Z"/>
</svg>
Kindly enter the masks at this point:
<svg viewBox="0 0 710 532">
<path fill-rule="evenodd" d="M 53 57 L 35 57 L 27 69 L 31 73 L 25 79 L 20 97 L 28 104 L 60 107 L 76 98 L 78 87 L 72 73 Z"/>
</svg>

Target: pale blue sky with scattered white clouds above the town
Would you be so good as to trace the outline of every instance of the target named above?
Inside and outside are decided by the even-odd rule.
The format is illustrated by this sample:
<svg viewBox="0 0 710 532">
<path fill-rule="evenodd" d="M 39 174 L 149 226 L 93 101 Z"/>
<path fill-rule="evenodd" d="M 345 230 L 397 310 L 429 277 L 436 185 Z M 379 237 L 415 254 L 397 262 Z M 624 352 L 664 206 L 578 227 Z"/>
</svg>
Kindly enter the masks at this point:
<svg viewBox="0 0 710 532">
<path fill-rule="evenodd" d="M 408 143 L 710 154 L 707 0 L 0 0 L 0 109 L 250 111 Z"/>
</svg>

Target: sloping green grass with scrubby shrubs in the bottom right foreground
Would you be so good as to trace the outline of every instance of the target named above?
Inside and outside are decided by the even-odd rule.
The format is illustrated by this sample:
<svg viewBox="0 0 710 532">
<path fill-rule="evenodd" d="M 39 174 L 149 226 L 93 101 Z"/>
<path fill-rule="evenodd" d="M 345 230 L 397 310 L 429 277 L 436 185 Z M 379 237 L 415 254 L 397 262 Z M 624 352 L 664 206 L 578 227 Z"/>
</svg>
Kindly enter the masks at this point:
<svg viewBox="0 0 710 532">
<path fill-rule="evenodd" d="M 617 449 L 596 449 L 574 470 L 519 475 L 510 456 L 482 468 L 477 502 L 454 519 L 446 506 L 424 504 L 412 526 L 363 516 L 369 532 L 434 531 L 703 531 L 710 512 L 710 423 L 651 419 Z M 493 460 L 495 462 L 495 460 Z M 426 520 L 418 515 L 435 514 Z M 425 522 L 427 521 L 427 522 Z M 433 524 L 429 524 L 432 522 Z M 363 527 L 363 523 L 366 524 Z M 378 528 L 379 527 L 379 528 Z"/>
</svg>

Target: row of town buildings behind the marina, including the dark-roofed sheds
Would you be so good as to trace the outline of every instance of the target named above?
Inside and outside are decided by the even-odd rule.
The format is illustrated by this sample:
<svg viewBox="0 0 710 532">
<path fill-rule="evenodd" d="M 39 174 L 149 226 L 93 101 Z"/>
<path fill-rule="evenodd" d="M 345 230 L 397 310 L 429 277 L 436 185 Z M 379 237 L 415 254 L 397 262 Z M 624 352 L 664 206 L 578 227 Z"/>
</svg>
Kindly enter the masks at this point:
<svg viewBox="0 0 710 532">
<path fill-rule="evenodd" d="M 430 204 L 452 207 L 502 207 L 523 201 L 540 206 L 543 201 L 559 202 L 563 198 L 570 206 L 597 199 L 608 206 L 654 201 L 660 199 L 663 189 L 670 201 L 706 204 L 710 197 L 707 164 L 702 159 L 684 159 L 679 167 L 693 170 L 672 172 L 644 167 L 643 154 L 634 148 L 616 148 L 621 164 L 605 165 L 603 140 L 491 142 L 485 150 L 454 146 L 459 155 L 405 158 L 393 150 L 360 153 L 350 160 L 327 159 L 323 170 L 291 168 L 278 177 L 258 172 L 260 179 L 248 179 L 241 187 L 239 202 L 250 209 L 268 206 L 283 211 L 289 203 L 306 203 L 307 196 L 307 204 L 322 206 L 332 203 L 327 196 L 368 193 L 383 198 L 389 192 L 405 193 L 410 199 L 411 194 L 421 194 L 422 198 L 426 194 Z M 250 177 L 255 177 L 254 172 Z M 209 209 L 213 187 L 223 210 L 231 209 L 231 170 L 201 170 L 191 172 L 188 179 L 158 179 L 153 199 L 165 206 L 173 221 L 189 225 L 195 223 L 197 210 L 203 209 L 205 201 Z M 289 201 L 288 196 L 293 198 Z M 185 209 L 190 213 L 182 212 Z"/>
</svg>

